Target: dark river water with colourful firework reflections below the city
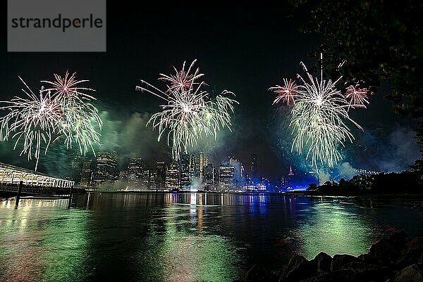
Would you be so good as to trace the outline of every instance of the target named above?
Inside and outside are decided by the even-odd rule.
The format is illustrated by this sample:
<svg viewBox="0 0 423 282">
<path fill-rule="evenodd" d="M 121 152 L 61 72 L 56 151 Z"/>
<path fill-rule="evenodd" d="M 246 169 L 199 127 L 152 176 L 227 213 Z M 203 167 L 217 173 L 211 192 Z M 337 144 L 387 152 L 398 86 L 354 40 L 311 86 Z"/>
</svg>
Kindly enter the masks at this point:
<svg viewBox="0 0 423 282">
<path fill-rule="evenodd" d="M 422 198 L 89 193 L 0 202 L 0 281 L 233 281 L 298 253 L 360 255 L 423 236 Z"/>
</svg>

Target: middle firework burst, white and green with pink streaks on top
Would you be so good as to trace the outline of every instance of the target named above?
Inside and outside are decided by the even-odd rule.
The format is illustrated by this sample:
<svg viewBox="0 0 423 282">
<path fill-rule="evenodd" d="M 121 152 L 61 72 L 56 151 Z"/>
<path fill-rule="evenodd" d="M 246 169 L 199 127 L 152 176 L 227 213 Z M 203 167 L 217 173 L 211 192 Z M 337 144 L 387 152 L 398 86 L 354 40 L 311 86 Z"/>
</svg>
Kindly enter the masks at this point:
<svg viewBox="0 0 423 282">
<path fill-rule="evenodd" d="M 227 127 L 231 130 L 231 113 L 234 104 L 238 103 L 230 91 L 223 91 L 215 99 L 209 97 L 204 88 L 204 82 L 197 82 L 203 76 L 197 68 L 191 72 L 194 60 L 185 71 L 185 62 L 182 70 L 174 68 L 175 75 L 161 74 L 159 80 L 166 83 L 166 90 L 161 91 L 141 80 L 142 86 L 136 86 L 139 91 L 145 91 L 166 101 L 161 105 L 161 112 L 155 113 L 147 122 L 159 130 L 158 141 L 167 134 L 168 144 L 172 143 L 172 156 L 180 159 L 180 153 L 187 153 L 190 146 L 204 136 L 214 136 L 217 132 Z"/>
</svg>

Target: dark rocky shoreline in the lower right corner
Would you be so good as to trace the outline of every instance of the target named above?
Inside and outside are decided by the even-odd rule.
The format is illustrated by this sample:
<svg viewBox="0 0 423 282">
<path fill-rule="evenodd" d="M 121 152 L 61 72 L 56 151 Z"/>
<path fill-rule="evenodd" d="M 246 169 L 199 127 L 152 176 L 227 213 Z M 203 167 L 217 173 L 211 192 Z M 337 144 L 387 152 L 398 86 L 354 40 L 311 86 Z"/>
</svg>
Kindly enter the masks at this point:
<svg viewBox="0 0 423 282">
<path fill-rule="evenodd" d="M 307 260 L 295 255 L 283 270 L 253 266 L 234 282 L 419 282 L 423 281 L 423 237 L 404 231 L 383 238 L 358 257 L 320 252 Z"/>
</svg>

